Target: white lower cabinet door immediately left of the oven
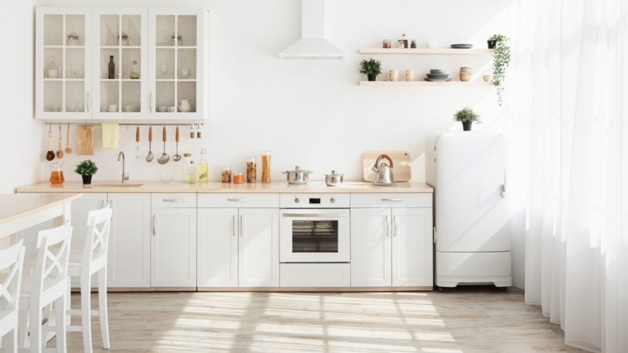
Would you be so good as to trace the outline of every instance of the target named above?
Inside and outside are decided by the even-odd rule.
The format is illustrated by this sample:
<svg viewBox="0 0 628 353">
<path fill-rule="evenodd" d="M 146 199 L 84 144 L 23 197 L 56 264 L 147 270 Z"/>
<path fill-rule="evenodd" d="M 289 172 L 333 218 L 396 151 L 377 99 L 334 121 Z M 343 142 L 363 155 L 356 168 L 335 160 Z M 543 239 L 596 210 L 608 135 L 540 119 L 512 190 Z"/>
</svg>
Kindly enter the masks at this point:
<svg viewBox="0 0 628 353">
<path fill-rule="evenodd" d="M 279 210 L 239 209 L 241 287 L 279 286 Z"/>
</svg>

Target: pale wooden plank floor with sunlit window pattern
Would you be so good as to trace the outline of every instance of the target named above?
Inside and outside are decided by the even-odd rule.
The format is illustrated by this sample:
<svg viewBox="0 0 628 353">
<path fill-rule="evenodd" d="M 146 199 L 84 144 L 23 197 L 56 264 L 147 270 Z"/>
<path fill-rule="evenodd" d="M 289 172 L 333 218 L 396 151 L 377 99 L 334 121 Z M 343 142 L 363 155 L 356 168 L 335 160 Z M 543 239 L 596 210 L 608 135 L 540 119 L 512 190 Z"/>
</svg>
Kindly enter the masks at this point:
<svg viewBox="0 0 628 353">
<path fill-rule="evenodd" d="M 522 291 L 489 287 L 110 293 L 109 320 L 110 350 L 93 320 L 94 352 L 583 352 L 565 345 L 560 327 L 526 305 Z M 80 332 L 68 333 L 68 352 L 83 352 Z"/>
</svg>

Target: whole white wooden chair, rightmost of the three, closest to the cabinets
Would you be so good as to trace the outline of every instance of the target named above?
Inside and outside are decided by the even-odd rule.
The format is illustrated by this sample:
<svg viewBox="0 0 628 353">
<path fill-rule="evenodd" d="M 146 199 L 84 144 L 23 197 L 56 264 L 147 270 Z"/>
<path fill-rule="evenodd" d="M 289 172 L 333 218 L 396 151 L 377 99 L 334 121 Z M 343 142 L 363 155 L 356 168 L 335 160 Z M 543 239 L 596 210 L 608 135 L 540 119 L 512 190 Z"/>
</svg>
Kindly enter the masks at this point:
<svg viewBox="0 0 628 353">
<path fill-rule="evenodd" d="M 109 319 L 107 318 L 107 246 L 111 225 L 111 207 L 90 211 L 87 214 L 87 237 L 82 251 L 70 251 L 71 277 L 80 278 L 81 308 L 72 310 L 69 315 L 81 315 L 82 325 L 70 325 L 69 331 L 83 332 L 85 353 L 92 352 L 91 316 L 100 317 L 100 334 L 104 349 L 109 349 Z M 91 310 L 92 274 L 98 276 L 98 310 Z"/>
</svg>

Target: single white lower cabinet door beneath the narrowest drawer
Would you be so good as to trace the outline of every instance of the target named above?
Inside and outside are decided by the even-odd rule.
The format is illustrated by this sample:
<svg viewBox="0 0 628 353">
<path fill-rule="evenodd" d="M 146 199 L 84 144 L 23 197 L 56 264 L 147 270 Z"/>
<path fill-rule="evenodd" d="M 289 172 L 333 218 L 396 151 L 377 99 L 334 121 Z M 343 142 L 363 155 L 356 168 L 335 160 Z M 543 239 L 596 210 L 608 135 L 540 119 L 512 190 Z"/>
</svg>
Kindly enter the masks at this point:
<svg viewBox="0 0 628 353">
<path fill-rule="evenodd" d="M 196 287 L 196 209 L 153 209 L 151 286 Z"/>
</svg>

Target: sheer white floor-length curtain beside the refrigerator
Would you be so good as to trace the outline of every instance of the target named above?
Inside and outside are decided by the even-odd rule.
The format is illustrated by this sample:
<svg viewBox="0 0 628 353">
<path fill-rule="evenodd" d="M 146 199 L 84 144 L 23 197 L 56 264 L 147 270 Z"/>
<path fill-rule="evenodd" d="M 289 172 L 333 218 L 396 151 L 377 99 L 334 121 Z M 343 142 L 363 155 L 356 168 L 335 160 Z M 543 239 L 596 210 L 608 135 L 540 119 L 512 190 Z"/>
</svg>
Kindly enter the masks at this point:
<svg viewBox="0 0 628 353">
<path fill-rule="evenodd" d="M 528 173 L 526 302 L 566 344 L 628 352 L 628 1 L 514 7 L 506 87 Z"/>
</svg>

